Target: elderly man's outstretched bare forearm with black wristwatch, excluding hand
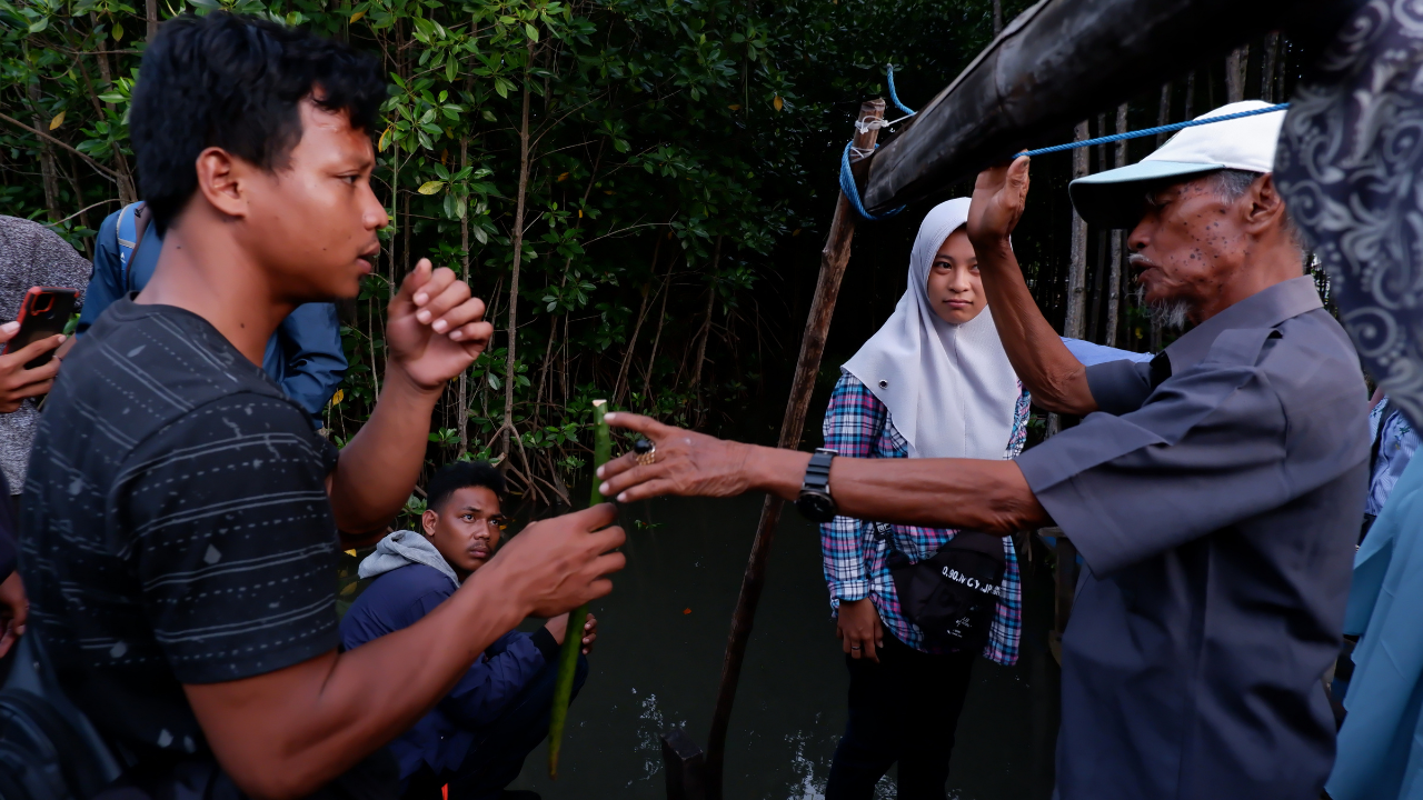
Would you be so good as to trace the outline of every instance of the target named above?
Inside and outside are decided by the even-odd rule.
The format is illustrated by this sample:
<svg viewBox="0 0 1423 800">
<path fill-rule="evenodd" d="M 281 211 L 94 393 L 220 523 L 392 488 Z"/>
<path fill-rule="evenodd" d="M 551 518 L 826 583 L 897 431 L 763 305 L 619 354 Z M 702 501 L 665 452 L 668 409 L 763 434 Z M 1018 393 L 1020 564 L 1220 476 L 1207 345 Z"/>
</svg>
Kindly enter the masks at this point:
<svg viewBox="0 0 1423 800">
<path fill-rule="evenodd" d="M 808 453 L 756 447 L 750 488 L 795 500 Z M 835 458 L 830 494 L 840 514 L 878 522 L 1010 534 L 1050 517 L 1012 461 L 976 458 Z"/>
</svg>

